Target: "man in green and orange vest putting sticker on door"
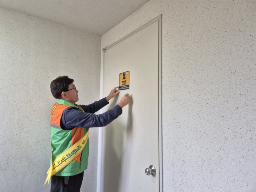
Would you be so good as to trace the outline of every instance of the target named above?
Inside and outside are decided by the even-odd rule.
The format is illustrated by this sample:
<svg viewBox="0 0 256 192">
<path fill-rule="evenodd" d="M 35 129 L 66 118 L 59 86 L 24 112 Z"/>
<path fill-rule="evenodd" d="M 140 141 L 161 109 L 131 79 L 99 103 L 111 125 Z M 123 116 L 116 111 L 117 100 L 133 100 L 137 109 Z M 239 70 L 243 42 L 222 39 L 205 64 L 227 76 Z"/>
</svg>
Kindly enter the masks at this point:
<svg viewBox="0 0 256 192">
<path fill-rule="evenodd" d="M 68 76 L 60 76 L 50 84 L 51 92 L 57 99 L 51 111 L 51 164 L 64 151 L 68 150 L 81 140 L 91 127 L 106 126 L 122 114 L 122 108 L 129 103 L 130 96 L 125 94 L 120 102 L 103 114 L 94 114 L 109 100 L 120 92 L 115 87 L 110 94 L 97 102 L 89 105 L 77 105 L 78 90 L 74 80 Z M 88 138 L 88 137 L 87 137 Z M 87 139 L 86 139 L 87 140 Z M 89 139 L 88 139 L 89 140 Z M 85 144 L 82 152 L 69 164 L 61 168 L 51 177 L 51 192 L 79 192 L 84 176 L 84 170 L 88 165 L 89 142 Z M 79 149 L 79 148 L 78 148 Z M 78 154 L 78 153 L 77 153 Z M 69 157 L 69 156 L 68 156 Z M 60 163 L 65 163 L 66 158 Z M 55 167 L 57 167 L 57 162 Z M 51 168 L 50 169 L 55 169 Z"/>
</svg>

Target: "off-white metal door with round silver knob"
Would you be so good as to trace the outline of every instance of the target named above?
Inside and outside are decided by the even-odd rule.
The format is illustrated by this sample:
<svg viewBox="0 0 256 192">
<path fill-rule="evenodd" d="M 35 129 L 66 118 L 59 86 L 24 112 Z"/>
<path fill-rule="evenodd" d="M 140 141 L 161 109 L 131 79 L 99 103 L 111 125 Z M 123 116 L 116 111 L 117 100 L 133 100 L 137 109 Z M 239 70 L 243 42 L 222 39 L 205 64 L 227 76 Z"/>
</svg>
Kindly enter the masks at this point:
<svg viewBox="0 0 256 192">
<path fill-rule="evenodd" d="M 129 93 L 130 104 L 103 128 L 102 192 L 159 191 L 158 23 L 150 24 L 104 53 L 104 95 L 130 71 L 130 90 L 120 91 L 104 112 Z M 150 165 L 155 176 L 145 174 Z"/>
</svg>

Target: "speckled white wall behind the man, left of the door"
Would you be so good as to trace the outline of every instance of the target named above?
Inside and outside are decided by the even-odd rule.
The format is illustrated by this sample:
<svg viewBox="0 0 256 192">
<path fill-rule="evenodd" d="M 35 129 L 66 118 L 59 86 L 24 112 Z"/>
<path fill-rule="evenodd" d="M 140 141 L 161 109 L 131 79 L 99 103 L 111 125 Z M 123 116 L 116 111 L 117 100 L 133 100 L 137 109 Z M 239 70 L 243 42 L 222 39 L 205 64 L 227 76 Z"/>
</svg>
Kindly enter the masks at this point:
<svg viewBox="0 0 256 192">
<path fill-rule="evenodd" d="M 43 192 L 50 166 L 50 82 L 73 78 L 78 104 L 100 96 L 101 37 L 0 8 L 0 191 Z M 98 129 L 82 190 L 96 191 Z"/>
</svg>

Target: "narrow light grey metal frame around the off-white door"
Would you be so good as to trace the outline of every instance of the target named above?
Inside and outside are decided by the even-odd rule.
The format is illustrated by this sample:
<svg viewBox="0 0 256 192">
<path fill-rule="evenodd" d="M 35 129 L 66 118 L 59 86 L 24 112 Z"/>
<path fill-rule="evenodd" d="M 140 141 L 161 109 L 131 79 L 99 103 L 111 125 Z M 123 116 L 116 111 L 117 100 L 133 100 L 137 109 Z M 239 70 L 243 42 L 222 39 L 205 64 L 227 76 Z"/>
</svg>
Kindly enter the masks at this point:
<svg viewBox="0 0 256 192">
<path fill-rule="evenodd" d="M 118 44 L 119 42 L 125 40 L 126 38 L 132 36 L 133 34 L 139 32 L 140 30 L 146 28 L 150 24 L 158 21 L 158 157 L 159 157 L 159 192 L 163 191 L 163 163 L 162 163 L 162 15 L 154 18 L 150 22 L 144 24 L 137 30 L 131 32 L 130 34 L 124 36 L 120 40 L 114 42 L 113 44 L 107 46 L 102 49 L 103 52 L 103 72 L 102 72 L 102 95 L 104 96 L 104 52 L 111 48 L 112 46 Z M 102 113 L 103 110 L 100 110 Z M 97 165 L 97 192 L 101 192 L 101 184 L 102 184 L 102 149 L 103 149 L 103 128 L 99 128 L 98 133 L 98 165 Z"/>
</svg>

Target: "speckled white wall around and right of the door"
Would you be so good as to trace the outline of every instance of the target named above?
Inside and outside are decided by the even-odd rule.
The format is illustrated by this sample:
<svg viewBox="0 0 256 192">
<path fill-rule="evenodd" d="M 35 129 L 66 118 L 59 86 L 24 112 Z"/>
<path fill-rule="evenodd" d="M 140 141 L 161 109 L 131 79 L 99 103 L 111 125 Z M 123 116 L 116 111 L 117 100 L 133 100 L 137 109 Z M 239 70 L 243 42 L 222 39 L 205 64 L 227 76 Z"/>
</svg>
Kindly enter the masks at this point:
<svg viewBox="0 0 256 192">
<path fill-rule="evenodd" d="M 255 13 L 255 0 L 151 0 L 102 36 L 162 14 L 165 192 L 256 190 Z"/>
</svg>

